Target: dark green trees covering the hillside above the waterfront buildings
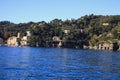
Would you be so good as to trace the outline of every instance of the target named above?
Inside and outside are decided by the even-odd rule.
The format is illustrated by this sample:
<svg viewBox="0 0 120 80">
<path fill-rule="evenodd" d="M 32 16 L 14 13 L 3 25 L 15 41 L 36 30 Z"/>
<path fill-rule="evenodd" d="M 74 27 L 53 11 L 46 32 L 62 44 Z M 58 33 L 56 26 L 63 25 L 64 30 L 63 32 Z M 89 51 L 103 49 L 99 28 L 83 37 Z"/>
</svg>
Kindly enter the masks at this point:
<svg viewBox="0 0 120 80">
<path fill-rule="evenodd" d="M 34 23 L 14 24 L 9 21 L 0 22 L 0 37 L 6 41 L 17 33 L 26 35 L 31 31 L 29 46 L 53 47 L 53 37 L 62 40 L 62 47 L 83 48 L 83 45 L 95 46 L 102 41 L 120 41 L 120 15 L 85 15 L 79 19 L 62 21 L 54 19 L 49 23 L 44 21 Z M 64 30 L 69 30 L 64 33 Z"/>
</svg>

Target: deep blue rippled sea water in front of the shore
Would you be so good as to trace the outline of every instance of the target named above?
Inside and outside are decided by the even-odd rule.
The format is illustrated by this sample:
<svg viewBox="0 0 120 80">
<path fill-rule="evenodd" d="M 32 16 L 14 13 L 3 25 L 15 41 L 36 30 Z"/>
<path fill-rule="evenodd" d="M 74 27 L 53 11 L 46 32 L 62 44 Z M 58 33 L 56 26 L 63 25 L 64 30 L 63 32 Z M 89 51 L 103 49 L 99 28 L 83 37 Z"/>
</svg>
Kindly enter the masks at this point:
<svg viewBox="0 0 120 80">
<path fill-rule="evenodd" d="M 120 53 L 0 47 L 0 80 L 120 80 Z"/>
</svg>

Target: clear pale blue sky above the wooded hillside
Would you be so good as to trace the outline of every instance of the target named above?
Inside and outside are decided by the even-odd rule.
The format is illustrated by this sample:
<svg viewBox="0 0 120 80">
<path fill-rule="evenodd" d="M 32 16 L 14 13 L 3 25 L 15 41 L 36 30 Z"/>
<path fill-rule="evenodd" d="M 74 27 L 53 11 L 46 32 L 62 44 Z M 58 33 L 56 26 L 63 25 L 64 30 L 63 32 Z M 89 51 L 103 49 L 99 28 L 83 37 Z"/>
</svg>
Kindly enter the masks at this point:
<svg viewBox="0 0 120 80">
<path fill-rule="evenodd" d="M 14 23 L 120 15 L 120 0 L 0 0 L 0 21 Z"/>
</svg>

